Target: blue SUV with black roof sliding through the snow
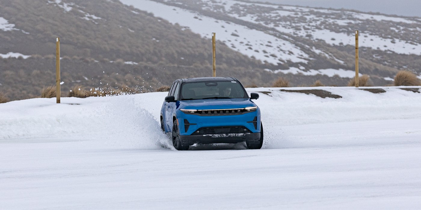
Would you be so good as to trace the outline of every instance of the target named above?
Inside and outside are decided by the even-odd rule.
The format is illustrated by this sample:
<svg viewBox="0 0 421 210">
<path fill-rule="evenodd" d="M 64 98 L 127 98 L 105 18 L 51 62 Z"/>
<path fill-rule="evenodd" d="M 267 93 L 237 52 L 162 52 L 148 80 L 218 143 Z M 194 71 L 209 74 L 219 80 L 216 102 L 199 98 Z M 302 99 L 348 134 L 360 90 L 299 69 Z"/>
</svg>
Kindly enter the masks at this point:
<svg viewBox="0 0 421 210">
<path fill-rule="evenodd" d="M 177 150 L 193 144 L 246 142 L 260 149 L 263 126 L 260 109 L 232 77 L 200 77 L 173 82 L 161 108 L 161 129 L 171 132 Z"/>
</svg>

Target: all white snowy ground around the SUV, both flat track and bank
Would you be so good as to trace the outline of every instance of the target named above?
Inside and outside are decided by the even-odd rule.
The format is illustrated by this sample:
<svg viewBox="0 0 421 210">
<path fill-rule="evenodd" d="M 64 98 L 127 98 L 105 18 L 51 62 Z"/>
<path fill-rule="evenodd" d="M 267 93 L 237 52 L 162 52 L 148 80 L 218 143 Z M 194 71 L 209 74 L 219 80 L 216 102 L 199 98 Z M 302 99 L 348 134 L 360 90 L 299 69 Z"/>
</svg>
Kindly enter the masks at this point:
<svg viewBox="0 0 421 210">
<path fill-rule="evenodd" d="M 416 209 L 421 93 L 381 88 L 247 89 L 260 95 L 262 150 L 173 150 L 165 92 L 0 104 L 0 206 Z"/>
</svg>

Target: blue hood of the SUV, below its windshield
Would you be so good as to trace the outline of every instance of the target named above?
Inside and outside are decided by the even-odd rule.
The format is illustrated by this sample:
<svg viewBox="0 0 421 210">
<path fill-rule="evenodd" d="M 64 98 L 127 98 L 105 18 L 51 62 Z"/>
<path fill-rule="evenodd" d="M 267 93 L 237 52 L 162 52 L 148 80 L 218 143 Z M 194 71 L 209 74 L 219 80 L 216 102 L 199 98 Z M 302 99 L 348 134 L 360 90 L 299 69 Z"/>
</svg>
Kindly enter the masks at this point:
<svg viewBox="0 0 421 210">
<path fill-rule="evenodd" d="M 249 98 L 224 98 L 179 101 L 181 106 L 192 109 L 229 109 L 256 106 Z"/>
</svg>

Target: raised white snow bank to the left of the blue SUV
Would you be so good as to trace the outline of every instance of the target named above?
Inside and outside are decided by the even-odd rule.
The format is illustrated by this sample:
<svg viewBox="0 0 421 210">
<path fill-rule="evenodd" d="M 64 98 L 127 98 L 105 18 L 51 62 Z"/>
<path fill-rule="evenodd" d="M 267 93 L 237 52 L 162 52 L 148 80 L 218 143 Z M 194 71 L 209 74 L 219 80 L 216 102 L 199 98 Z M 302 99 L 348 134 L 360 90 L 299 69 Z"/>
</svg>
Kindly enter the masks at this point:
<svg viewBox="0 0 421 210">
<path fill-rule="evenodd" d="M 98 147 L 154 149 L 166 146 L 142 96 L 36 98 L 1 104 L 0 139 L 83 140 Z M 92 141 L 87 141 L 92 140 Z M 88 142 L 88 143 L 87 143 Z"/>
</svg>

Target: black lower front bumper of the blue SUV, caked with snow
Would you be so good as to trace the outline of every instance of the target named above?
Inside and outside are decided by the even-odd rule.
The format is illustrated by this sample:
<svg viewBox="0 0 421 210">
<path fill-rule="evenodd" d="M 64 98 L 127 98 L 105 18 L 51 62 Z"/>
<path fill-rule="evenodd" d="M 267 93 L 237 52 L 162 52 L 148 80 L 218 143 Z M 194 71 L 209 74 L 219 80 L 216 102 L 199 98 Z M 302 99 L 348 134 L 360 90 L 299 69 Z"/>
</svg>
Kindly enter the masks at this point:
<svg viewBox="0 0 421 210">
<path fill-rule="evenodd" d="M 242 134 L 207 134 L 207 135 L 189 135 L 179 136 L 181 142 L 185 144 L 235 144 L 245 141 L 255 141 L 260 139 L 260 133 L 242 133 Z"/>
</svg>

